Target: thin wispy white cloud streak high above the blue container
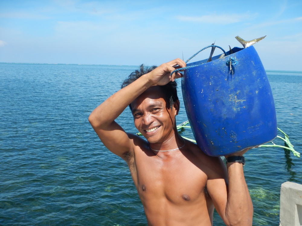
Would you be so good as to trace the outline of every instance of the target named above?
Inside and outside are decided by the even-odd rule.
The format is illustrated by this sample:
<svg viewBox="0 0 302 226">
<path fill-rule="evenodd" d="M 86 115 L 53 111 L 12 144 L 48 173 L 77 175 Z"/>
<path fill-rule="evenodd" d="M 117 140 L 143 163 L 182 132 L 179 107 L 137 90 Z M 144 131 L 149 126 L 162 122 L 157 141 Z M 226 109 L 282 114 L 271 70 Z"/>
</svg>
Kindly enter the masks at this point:
<svg viewBox="0 0 302 226">
<path fill-rule="evenodd" d="M 186 22 L 198 22 L 204 24 L 233 24 L 255 18 L 257 14 L 212 14 L 199 17 L 178 16 L 179 20 Z"/>
</svg>

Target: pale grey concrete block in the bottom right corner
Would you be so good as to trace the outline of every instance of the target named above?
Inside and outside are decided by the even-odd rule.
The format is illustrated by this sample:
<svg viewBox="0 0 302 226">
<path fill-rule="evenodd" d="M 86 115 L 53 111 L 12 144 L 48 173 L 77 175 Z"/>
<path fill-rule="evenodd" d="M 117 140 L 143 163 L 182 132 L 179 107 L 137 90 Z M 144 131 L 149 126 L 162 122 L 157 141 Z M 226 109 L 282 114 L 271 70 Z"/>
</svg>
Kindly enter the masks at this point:
<svg viewBox="0 0 302 226">
<path fill-rule="evenodd" d="M 302 185 L 293 182 L 281 184 L 280 226 L 302 226 Z"/>
</svg>

